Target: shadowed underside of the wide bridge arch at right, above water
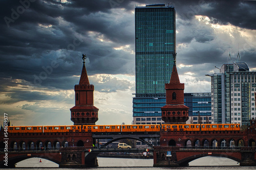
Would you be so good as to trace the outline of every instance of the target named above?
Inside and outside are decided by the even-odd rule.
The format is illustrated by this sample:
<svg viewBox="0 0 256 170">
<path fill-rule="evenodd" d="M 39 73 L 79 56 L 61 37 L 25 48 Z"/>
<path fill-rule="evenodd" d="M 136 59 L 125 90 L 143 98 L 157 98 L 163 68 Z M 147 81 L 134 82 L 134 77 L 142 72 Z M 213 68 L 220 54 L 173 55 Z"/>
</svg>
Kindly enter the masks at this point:
<svg viewBox="0 0 256 170">
<path fill-rule="evenodd" d="M 198 159 L 198 158 L 202 158 L 202 157 L 206 157 L 206 156 L 209 156 L 207 153 L 206 154 L 198 154 L 198 155 L 193 155 L 193 156 L 189 156 L 189 157 L 186 157 L 186 158 L 183 158 L 179 161 L 177 161 L 178 164 L 180 165 L 185 165 L 187 166 L 187 164 L 195 159 Z M 215 153 L 212 153 L 211 156 L 218 156 L 218 157 L 225 157 L 225 158 L 229 158 L 229 159 L 232 159 L 234 161 L 237 161 L 237 162 L 241 162 L 241 160 L 239 158 L 236 158 L 236 157 L 232 157 L 230 155 L 223 155 L 223 154 L 215 154 Z"/>
</svg>

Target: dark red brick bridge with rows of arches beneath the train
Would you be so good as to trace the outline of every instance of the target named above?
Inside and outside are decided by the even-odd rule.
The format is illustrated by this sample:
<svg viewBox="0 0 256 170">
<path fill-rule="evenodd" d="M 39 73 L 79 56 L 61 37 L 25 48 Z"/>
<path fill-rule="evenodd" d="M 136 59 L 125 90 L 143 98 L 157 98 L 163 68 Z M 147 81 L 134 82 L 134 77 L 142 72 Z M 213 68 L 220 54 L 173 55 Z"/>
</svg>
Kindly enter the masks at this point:
<svg viewBox="0 0 256 170">
<path fill-rule="evenodd" d="M 2 132 L 1 132 L 2 133 Z M 188 162 L 212 155 L 233 159 L 240 165 L 256 165 L 255 163 L 255 127 L 245 131 L 164 131 L 155 134 L 118 134 L 102 135 L 97 133 L 20 133 L 9 134 L 8 165 L 31 157 L 51 160 L 60 167 L 97 166 L 97 154 L 103 150 L 95 150 L 97 138 L 112 138 L 112 141 L 133 138 L 143 141 L 143 138 L 158 138 L 159 145 L 154 146 L 154 166 L 185 166 Z M 3 139 L 3 138 L 2 138 Z M 4 166 L 4 140 L 0 142 L 0 164 Z M 15 147 L 16 146 L 16 147 Z M 44 151 L 41 151 L 44 147 Z M 88 150 L 93 152 L 89 154 Z M 25 151 L 24 151 L 25 150 Z M 172 151 L 172 157 L 166 157 L 166 152 Z M 105 152 L 105 151 L 104 151 Z M 126 152 L 134 152 L 128 150 Z M 143 152 L 143 151 L 141 151 Z"/>
</svg>

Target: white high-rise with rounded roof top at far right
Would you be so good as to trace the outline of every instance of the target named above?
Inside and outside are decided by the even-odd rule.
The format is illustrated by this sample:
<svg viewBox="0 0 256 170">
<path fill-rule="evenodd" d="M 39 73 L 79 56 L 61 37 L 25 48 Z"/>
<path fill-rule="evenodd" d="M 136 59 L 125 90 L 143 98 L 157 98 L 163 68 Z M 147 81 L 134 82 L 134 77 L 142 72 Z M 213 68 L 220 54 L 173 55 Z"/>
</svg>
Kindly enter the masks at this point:
<svg viewBox="0 0 256 170">
<path fill-rule="evenodd" d="M 245 62 L 223 64 L 219 74 L 211 77 L 212 123 L 249 125 L 255 118 L 255 71 Z"/>
</svg>

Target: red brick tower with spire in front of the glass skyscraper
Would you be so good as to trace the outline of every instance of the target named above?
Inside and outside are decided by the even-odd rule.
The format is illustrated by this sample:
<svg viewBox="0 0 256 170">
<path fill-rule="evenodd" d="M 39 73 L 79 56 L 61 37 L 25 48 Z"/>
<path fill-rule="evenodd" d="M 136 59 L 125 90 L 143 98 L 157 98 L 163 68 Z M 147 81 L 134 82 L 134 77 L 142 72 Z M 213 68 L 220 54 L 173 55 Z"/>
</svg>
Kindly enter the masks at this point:
<svg viewBox="0 0 256 170">
<path fill-rule="evenodd" d="M 175 56 L 176 58 L 176 56 Z M 165 124 L 185 124 L 188 120 L 188 107 L 184 105 L 184 83 L 180 83 L 174 61 L 170 83 L 165 84 L 166 105 L 161 108 Z"/>
</svg>

